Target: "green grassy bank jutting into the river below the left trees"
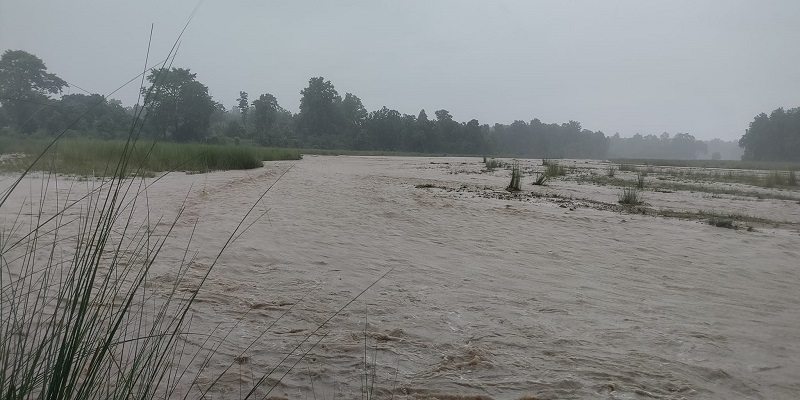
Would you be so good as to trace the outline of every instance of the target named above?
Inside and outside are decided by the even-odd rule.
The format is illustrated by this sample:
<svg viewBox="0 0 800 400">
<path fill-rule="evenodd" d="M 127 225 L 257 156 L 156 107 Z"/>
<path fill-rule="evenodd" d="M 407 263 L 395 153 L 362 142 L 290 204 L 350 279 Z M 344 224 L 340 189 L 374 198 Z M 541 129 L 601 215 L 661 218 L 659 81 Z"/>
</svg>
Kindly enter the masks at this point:
<svg viewBox="0 0 800 400">
<path fill-rule="evenodd" d="M 15 155 L 0 164 L 0 170 L 24 169 L 48 144 L 49 141 L 41 138 L 0 137 L 0 154 Z M 126 142 L 121 140 L 61 139 L 34 165 L 34 169 L 63 174 L 109 175 L 125 145 Z M 131 152 L 127 174 L 252 169 L 260 167 L 262 161 L 297 159 L 300 159 L 300 152 L 292 149 L 141 141 Z"/>
</svg>

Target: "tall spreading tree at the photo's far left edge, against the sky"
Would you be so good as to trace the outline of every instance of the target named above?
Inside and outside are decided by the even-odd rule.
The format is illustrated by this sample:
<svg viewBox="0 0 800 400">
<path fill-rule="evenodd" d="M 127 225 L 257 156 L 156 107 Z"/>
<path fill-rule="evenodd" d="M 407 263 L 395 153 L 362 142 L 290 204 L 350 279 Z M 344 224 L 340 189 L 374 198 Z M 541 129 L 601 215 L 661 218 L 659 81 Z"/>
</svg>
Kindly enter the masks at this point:
<svg viewBox="0 0 800 400">
<path fill-rule="evenodd" d="M 6 50 L 0 57 L 0 104 L 17 129 L 36 130 L 31 120 L 36 110 L 50 104 L 67 82 L 47 72 L 39 57 L 23 50 Z"/>
</svg>

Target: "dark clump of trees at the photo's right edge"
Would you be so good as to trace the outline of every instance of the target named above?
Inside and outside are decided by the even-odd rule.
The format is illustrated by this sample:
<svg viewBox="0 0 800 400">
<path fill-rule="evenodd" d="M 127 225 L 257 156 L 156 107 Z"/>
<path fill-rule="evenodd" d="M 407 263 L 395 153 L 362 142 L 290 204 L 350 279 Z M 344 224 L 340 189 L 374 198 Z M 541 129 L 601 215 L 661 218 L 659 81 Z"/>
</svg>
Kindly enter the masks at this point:
<svg viewBox="0 0 800 400">
<path fill-rule="evenodd" d="M 800 161 L 800 108 L 761 113 L 739 139 L 743 160 Z"/>
</svg>

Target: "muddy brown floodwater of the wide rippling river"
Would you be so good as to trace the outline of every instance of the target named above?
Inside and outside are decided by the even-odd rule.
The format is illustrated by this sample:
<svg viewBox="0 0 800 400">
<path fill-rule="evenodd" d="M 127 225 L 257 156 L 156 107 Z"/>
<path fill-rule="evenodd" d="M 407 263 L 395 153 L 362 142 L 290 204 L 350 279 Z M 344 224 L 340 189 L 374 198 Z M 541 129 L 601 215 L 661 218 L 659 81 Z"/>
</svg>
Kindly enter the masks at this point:
<svg viewBox="0 0 800 400">
<path fill-rule="evenodd" d="M 196 294 L 178 392 L 240 398 L 276 368 L 258 398 L 798 396 L 788 169 L 519 160 L 509 192 L 512 160 L 489 161 L 306 156 L 143 178 L 147 206 L 125 221 L 175 221 L 148 225 L 174 239 L 148 299 Z M 103 184 L 55 179 L 26 178 L 0 208 L 6 243 Z M 76 213 L 52 245 L 67 259 Z"/>
</svg>

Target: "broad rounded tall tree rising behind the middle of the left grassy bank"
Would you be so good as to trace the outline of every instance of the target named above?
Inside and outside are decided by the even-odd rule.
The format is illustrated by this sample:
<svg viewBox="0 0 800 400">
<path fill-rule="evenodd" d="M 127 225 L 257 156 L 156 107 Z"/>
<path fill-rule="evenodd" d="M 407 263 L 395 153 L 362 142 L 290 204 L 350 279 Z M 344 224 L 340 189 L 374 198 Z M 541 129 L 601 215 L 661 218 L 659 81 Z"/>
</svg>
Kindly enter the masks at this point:
<svg viewBox="0 0 800 400">
<path fill-rule="evenodd" d="M 205 137 L 217 107 L 208 87 L 196 76 L 183 68 L 155 70 L 147 76 L 153 90 L 142 88 L 142 92 L 147 95 L 148 119 L 157 134 L 182 142 Z"/>
</svg>

